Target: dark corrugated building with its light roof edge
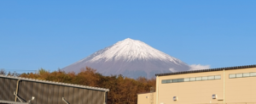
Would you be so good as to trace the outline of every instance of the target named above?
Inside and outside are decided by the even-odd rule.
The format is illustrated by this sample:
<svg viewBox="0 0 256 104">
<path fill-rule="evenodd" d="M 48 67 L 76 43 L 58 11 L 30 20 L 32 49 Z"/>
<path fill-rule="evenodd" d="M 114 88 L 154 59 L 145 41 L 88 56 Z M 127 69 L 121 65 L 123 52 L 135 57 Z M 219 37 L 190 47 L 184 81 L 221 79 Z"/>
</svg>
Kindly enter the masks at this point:
<svg viewBox="0 0 256 104">
<path fill-rule="evenodd" d="M 84 85 L 0 75 L 0 104 L 107 104 L 108 91 Z"/>
</svg>

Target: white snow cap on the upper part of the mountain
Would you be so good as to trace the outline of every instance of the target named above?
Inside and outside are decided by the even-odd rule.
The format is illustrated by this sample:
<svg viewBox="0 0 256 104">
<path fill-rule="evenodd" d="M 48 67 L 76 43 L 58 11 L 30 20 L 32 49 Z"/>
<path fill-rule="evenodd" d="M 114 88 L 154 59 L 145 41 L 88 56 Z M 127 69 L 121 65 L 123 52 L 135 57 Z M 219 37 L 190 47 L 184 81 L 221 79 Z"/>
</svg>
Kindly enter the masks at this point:
<svg viewBox="0 0 256 104">
<path fill-rule="evenodd" d="M 148 46 L 143 41 L 132 40 L 130 38 L 124 41 L 119 41 L 111 47 L 104 49 L 105 51 L 96 52 L 96 56 L 88 60 L 91 63 L 99 60 L 112 61 L 112 60 L 126 60 L 131 62 L 134 60 L 150 60 L 159 59 L 162 61 L 172 61 L 173 63 L 180 63 L 177 58 L 171 57 L 164 52 Z M 86 59 L 86 58 L 84 58 Z"/>
</svg>

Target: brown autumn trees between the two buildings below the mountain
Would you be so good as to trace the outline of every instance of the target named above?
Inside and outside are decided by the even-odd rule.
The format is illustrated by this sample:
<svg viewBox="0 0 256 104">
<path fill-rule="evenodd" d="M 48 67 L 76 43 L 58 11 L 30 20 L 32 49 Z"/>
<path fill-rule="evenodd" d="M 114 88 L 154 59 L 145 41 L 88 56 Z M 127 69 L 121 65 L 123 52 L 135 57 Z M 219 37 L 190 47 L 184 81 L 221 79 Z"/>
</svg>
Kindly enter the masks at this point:
<svg viewBox="0 0 256 104">
<path fill-rule="evenodd" d="M 0 74 L 6 74 L 5 70 L 1 69 Z M 79 74 L 74 72 L 66 73 L 61 69 L 49 72 L 44 68 L 40 68 L 37 73 L 9 73 L 9 75 L 107 88 L 110 90 L 108 92 L 108 104 L 136 104 L 138 93 L 149 92 L 150 87 L 155 88 L 155 79 L 147 79 L 145 77 L 131 79 L 122 74 L 104 76 L 97 73 L 96 69 L 89 67 L 82 68 Z"/>
</svg>

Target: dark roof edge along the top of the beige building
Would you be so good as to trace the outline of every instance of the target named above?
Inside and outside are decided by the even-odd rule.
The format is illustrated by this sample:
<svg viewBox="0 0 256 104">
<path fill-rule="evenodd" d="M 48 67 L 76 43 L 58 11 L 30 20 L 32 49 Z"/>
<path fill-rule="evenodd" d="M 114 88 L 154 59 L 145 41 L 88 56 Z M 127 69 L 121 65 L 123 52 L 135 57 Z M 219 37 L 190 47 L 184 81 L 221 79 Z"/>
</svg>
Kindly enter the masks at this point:
<svg viewBox="0 0 256 104">
<path fill-rule="evenodd" d="M 191 71 L 183 71 L 183 72 L 175 72 L 175 73 L 155 74 L 155 76 L 166 76 L 166 75 L 174 75 L 174 74 L 192 74 L 192 73 L 213 72 L 213 71 L 241 69 L 241 68 L 256 68 L 256 64 L 236 66 L 236 67 L 226 67 L 226 68 L 209 68 L 209 69 L 191 70 Z"/>
</svg>

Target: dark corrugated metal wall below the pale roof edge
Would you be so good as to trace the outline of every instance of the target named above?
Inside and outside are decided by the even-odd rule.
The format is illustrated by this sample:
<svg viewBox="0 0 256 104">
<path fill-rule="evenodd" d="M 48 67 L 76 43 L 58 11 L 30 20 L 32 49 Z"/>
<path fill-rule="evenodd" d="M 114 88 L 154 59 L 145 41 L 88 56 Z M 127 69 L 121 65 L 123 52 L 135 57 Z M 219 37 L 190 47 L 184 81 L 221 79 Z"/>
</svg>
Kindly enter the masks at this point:
<svg viewBox="0 0 256 104">
<path fill-rule="evenodd" d="M 17 81 L 18 79 L 0 77 L 0 100 L 15 101 L 14 91 Z M 62 101 L 62 97 L 70 104 L 103 104 L 104 94 L 102 90 L 88 90 L 26 80 L 20 80 L 18 90 L 18 96 L 24 101 L 29 101 L 34 96 L 32 104 L 66 104 Z"/>
</svg>

